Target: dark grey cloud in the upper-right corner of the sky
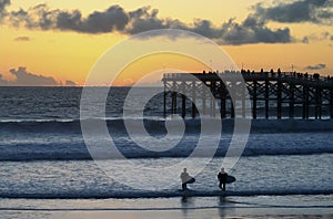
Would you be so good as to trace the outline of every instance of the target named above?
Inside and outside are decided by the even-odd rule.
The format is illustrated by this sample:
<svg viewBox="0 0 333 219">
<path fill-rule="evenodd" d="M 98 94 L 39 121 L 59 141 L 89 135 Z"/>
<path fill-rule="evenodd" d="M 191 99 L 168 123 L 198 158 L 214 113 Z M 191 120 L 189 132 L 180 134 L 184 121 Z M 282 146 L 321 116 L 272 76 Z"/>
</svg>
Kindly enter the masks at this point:
<svg viewBox="0 0 333 219">
<path fill-rule="evenodd" d="M 273 6 L 258 3 L 253 7 L 255 17 L 280 23 L 311 22 L 332 25 L 332 0 L 296 0 L 287 3 L 278 1 Z"/>
</svg>

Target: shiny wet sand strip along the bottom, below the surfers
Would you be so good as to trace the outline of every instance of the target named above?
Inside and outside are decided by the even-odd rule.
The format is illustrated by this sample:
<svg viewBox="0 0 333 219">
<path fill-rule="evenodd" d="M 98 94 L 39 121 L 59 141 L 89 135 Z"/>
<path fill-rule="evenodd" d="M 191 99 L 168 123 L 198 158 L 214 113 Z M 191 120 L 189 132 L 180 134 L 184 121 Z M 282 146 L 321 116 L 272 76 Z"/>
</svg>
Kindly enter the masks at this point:
<svg viewBox="0 0 333 219">
<path fill-rule="evenodd" d="M 329 196 L 0 199 L 0 217 L 51 219 L 333 218 Z"/>
</svg>

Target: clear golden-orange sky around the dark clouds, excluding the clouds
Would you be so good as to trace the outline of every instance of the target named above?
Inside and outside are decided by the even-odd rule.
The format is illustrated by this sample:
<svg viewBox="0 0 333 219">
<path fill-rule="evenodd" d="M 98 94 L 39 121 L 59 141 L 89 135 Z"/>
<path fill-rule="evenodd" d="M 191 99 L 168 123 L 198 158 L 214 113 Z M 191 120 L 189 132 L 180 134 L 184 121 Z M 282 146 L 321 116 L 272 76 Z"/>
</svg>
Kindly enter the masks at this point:
<svg viewBox="0 0 333 219">
<path fill-rule="evenodd" d="M 150 0 L 140 1 L 140 3 L 139 1 L 130 0 L 112 2 L 104 0 L 37 0 L 33 2 L 12 0 L 11 4 L 6 7 L 6 11 L 9 13 L 18 11 L 20 8 L 24 11 L 29 11 L 29 9 L 39 3 L 47 3 L 48 10 L 62 10 L 67 12 L 79 10 L 82 18 L 87 18 L 87 15 L 93 11 L 102 12 L 113 4 L 119 4 L 125 12 L 150 6 L 150 12 L 152 9 L 159 10 L 157 14 L 158 19 L 178 19 L 189 27 L 193 24 L 195 19 L 206 19 L 214 28 L 218 28 L 222 23 L 228 22 L 231 18 L 235 18 L 234 22 L 241 24 L 249 14 L 254 13 L 254 9 L 251 9 L 251 7 L 258 2 L 261 1 L 205 0 L 195 1 L 194 4 L 193 1 L 190 0 L 168 2 L 163 0 Z M 332 8 L 329 10 L 332 10 Z M 36 19 L 37 13 L 33 15 L 31 17 Z M 2 20 L 0 24 L 0 74 L 2 79 L 7 81 L 16 80 L 16 76 L 10 74 L 10 69 L 26 66 L 27 71 L 31 74 L 51 76 L 57 82 L 61 81 L 62 83 L 70 80 L 82 85 L 98 59 L 108 51 L 108 49 L 130 35 L 124 31 L 89 33 L 75 30 L 60 30 L 57 28 L 42 30 L 36 27 L 28 29 L 22 23 L 19 27 L 14 27 L 8 17 Z M 332 25 L 311 22 L 287 23 L 266 21 L 265 27 L 271 30 L 289 28 L 293 42 L 222 43 L 220 46 L 229 53 L 239 67 L 243 64 L 245 69 L 251 70 L 281 67 L 283 71 L 291 71 L 291 66 L 294 65 L 294 70 L 300 72 L 320 72 L 323 75 L 333 75 Z M 324 33 L 326 33 L 325 36 Z M 307 36 L 309 42 L 302 42 L 304 36 Z M 167 59 L 163 55 L 158 55 L 149 62 L 145 61 L 144 64 L 142 62 L 140 67 L 137 66 L 138 64 L 128 66 L 133 76 L 132 79 L 129 79 L 129 76 L 123 79 L 123 84 L 131 80 L 137 80 L 138 74 L 152 71 L 151 66 L 155 66 L 153 70 L 157 70 L 159 66 L 162 69 L 163 65 L 174 65 L 174 63 L 178 63 L 176 65 L 184 71 L 202 71 L 200 64 L 195 65 L 192 61 L 186 59 L 179 59 L 178 56 Z M 322 67 L 319 70 L 306 70 L 306 66 L 313 66 L 315 69 L 315 66 L 320 65 Z M 135 67 L 140 73 L 135 73 Z M 120 81 L 119 84 L 121 85 L 122 82 Z"/>
</svg>

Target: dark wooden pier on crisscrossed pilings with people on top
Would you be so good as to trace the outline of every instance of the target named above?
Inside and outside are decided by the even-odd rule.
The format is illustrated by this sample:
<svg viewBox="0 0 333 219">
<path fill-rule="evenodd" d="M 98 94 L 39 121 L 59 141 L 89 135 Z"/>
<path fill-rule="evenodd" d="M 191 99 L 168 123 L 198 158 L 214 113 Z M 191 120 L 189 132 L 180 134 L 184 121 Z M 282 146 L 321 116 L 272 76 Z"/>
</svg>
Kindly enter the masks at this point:
<svg viewBox="0 0 333 219">
<path fill-rule="evenodd" d="M 333 77 L 330 76 L 280 70 L 167 73 L 162 82 L 164 116 L 180 114 L 185 117 L 190 113 L 194 118 L 200 109 L 202 114 L 221 118 L 248 115 L 278 119 L 333 118 Z"/>
</svg>

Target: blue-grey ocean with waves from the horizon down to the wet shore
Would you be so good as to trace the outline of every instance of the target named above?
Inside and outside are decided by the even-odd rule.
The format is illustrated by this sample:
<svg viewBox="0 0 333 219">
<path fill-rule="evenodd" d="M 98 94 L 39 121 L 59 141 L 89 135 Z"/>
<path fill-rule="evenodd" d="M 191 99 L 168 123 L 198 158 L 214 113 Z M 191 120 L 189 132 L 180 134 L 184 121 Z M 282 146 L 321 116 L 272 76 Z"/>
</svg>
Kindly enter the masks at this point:
<svg viewBox="0 0 333 219">
<path fill-rule="evenodd" d="M 90 88 L 99 93 L 99 87 Z M 201 139 L 202 119 L 214 118 L 185 117 L 179 137 L 165 128 L 173 118 L 163 117 L 163 94 L 140 112 L 137 103 L 124 106 L 129 87 L 110 90 L 104 116 L 97 107 L 101 103 L 95 103 L 85 106 L 91 117 L 80 118 L 81 92 L 82 87 L 0 87 L 1 218 L 333 217 L 333 121 L 329 118 L 251 121 L 244 152 L 228 169 L 236 181 L 222 192 L 216 175 L 233 137 L 234 119 L 223 119 L 212 157 L 206 153 L 214 149 L 211 144 L 190 156 Z M 123 111 L 130 115 L 125 119 L 142 122 L 149 136 L 129 135 Z M 82 119 L 105 122 L 123 158 L 93 160 L 84 144 Z M 178 144 L 154 147 L 153 138 L 165 136 L 167 143 Z M 205 137 L 210 143 L 210 135 Z M 153 147 L 144 148 L 135 138 Z M 99 133 L 94 140 L 97 145 L 108 142 Z M 206 164 L 186 194 L 180 190 L 182 168 L 163 171 L 185 159 Z M 143 167 L 161 171 L 154 178 Z M 182 167 L 190 174 L 198 169 Z"/>
</svg>

